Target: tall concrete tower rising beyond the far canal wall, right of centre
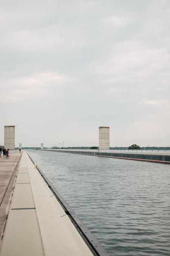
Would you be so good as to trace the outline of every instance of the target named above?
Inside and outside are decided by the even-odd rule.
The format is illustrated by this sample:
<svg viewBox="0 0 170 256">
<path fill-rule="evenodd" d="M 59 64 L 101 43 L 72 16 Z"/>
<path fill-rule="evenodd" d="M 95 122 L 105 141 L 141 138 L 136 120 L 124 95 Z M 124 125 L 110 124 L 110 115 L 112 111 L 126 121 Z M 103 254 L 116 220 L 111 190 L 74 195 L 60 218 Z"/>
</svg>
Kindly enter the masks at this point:
<svg viewBox="0 0 170 256">
<path fill-rule="evenodd" d="M 99 127 L 99 149 L 110 149 L 109 127 Z"/>
</svg>

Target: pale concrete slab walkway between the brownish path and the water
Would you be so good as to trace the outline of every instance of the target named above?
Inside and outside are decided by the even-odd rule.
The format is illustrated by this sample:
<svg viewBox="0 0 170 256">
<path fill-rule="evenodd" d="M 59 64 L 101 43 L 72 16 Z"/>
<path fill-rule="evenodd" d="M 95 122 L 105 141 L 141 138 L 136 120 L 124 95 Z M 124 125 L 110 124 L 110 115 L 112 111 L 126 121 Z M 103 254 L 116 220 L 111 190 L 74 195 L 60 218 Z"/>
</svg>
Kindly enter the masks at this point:
<svg viewBox="0 0 170 256">
<path fill-rule="evenodd" d="M 19 160 L 20 153 L 14 153 L 13 157 Z M 4 161 L 8 160 L 6 164 Z M 12 156 L 1 160 L 4 171 L 10 161 Z M 11 255 L 93 255 L 25 151 L 20 159 L 0 250 L 0 256 Z"/>
</svg>

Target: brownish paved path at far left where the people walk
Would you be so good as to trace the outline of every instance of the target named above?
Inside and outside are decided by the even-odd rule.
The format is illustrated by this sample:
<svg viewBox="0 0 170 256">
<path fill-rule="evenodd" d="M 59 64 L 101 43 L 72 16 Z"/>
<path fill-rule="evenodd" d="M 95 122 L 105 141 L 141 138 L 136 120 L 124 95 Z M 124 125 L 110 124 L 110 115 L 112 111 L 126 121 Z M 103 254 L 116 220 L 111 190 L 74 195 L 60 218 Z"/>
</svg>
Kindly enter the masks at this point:
<svg viewBox="0 0 170 256">
<path fill-rule="evenodd" d="M 0 247 L 20 157 L 18 150 L 10 154 L 9 159 L 4 159 L 3 155 L 0 158 Z"/>
</svg>

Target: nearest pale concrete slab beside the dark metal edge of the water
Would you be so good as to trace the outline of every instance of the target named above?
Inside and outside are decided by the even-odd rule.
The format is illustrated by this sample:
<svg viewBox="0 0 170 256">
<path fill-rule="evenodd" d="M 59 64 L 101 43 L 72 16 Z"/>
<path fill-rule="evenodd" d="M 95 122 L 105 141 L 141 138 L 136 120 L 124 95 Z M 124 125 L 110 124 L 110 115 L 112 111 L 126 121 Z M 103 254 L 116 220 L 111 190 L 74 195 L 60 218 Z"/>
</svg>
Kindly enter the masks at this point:
<svg viewBox="0 0 170 256">
<path fill-rule="evenodd" d="M 68 216 L 39 217 L 44 253 L 48 256 L 92 256 Z"/>
</svg>

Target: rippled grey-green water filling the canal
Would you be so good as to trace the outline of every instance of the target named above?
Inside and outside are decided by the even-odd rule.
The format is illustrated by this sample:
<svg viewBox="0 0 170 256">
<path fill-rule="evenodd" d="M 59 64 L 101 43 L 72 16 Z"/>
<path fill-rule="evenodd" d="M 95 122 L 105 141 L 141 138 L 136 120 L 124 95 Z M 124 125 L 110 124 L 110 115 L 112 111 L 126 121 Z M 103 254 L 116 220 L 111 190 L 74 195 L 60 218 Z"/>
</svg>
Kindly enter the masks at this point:
<svg viewBox="0 0 170 256">
<path fill-rule="evenodd" d="M 170 255 L 170 165 L 27 152 L 110 255 Z"/>
</svg>

